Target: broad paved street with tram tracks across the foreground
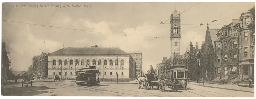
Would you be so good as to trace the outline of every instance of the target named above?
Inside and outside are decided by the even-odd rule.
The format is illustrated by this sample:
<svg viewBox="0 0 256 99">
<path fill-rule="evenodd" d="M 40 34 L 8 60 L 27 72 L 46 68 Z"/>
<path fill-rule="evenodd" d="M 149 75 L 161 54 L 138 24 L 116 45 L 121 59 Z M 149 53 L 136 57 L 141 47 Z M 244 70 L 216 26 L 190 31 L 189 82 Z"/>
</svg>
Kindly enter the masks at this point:
<svg viewBox="0 0 256 99">
<path fill-rule="evenodd" d="M 76 85 L 72 81 L 53 82 L 52 80 L 33 80 L 32 87 L 10 83 L 4 86 L 2 95 L 8 96 L 175 96 L 175 97 L 253 97 L 254 93 L 227 89 L 217 89 L 188 84 L 188 89 L 165 92 L 156 89 L 138 89 L 138 84 L 101 83 L 88 87 Z M 7 93 L 7 94 L 6 94 Z"/>
</svg>

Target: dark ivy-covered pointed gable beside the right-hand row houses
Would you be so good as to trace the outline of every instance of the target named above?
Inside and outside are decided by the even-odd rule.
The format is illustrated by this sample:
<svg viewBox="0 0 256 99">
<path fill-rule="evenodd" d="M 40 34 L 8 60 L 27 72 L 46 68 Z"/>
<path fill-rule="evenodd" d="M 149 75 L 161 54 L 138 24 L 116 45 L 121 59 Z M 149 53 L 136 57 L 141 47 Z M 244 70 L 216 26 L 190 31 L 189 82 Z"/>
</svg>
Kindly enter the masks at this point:
<svg viewBox="0 0 256 99">
<path fill-rule="evenodd" d="M 214 79 L 214 49 L 212 45 L 209 24 L 207 25 L 205 40 L 202 47 L 202 75 L 204 76 L 205 80 L 210 81 Z"/>
</svg>

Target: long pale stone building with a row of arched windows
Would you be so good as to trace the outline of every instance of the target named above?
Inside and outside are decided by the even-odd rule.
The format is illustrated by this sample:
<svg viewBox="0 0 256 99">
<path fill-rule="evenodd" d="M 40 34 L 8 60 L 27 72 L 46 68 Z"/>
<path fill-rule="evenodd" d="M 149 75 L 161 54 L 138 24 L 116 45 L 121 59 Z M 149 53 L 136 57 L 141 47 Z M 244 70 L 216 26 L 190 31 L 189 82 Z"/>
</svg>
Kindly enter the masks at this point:
<svg viewBox="0 0 256 99">
<path fill-rule="evenodd" d="M 119 48 L 63 48 L 48 54 L 48 77 L 75 77 L 75 71 L 96 66 L 100 78 L 136 78 L 135 61 Z"/>
</svg>

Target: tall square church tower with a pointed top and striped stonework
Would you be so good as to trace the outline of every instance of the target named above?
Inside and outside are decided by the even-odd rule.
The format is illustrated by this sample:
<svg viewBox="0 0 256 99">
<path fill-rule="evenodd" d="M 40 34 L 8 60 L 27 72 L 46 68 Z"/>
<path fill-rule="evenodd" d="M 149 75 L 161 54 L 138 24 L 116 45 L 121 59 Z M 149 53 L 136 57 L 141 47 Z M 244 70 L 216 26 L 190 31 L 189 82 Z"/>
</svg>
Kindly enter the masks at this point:
<svg viewBox="0 0 256 99">
<path fill-rule="evenodd" d="M 171 14 L 171 57 L 175 54 L 180 55 L 180 13 L 178 14 L 176 7 Z"/>
</svg>

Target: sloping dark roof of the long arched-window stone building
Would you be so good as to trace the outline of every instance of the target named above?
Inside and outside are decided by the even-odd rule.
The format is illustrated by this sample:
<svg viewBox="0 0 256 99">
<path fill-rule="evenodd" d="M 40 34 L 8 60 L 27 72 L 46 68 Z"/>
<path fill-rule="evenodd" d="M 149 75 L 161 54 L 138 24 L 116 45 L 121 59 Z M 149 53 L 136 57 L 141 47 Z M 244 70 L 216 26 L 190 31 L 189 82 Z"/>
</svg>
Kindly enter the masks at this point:
<svg viewBox="0 0 256 99">
<path fill-rule="evenodd" d="M 63 48 L 49 55 L 129 55 L 119 48 Z"/>
</svg>

